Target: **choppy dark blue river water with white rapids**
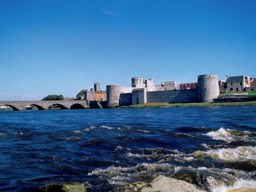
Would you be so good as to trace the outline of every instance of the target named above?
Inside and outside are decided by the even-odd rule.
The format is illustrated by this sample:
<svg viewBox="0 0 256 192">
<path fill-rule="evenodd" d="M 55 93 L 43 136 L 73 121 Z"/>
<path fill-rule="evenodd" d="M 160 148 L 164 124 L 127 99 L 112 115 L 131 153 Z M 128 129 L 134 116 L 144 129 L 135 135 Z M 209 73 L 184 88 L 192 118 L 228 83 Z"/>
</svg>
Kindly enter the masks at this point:
<svg viewBox="0 0 256 192">
<path fill-rule="evenodd" d="M 70 181 L 109 191 L 158 174 L 254 191 L 255 115 L 255 106 L 0 110 L 0 191 Z"/>
</svg>

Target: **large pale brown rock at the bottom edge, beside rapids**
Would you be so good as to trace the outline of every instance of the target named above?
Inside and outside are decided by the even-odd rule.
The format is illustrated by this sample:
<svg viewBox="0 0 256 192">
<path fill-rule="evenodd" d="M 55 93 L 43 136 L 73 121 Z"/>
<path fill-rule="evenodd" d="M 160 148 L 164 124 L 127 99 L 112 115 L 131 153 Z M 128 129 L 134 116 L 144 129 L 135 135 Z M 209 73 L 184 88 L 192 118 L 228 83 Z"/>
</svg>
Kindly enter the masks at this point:
<svg viewBox="0 0 256 192">
<path fill-rule="evenodd" d="M 150 183 L 136 182 L 120 187 L 111 192 L 205 192 L 198 186 L 188 182 L 165 177 L 154 178 Z"/>
</svg>

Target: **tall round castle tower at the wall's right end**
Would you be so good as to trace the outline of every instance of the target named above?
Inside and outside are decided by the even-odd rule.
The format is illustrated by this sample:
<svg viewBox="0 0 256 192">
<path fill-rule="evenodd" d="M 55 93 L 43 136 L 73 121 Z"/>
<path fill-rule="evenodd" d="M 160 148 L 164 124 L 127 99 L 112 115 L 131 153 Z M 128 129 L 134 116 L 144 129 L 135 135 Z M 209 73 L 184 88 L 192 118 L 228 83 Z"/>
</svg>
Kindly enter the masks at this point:
<svg viewBox="0 0 256 192">
<path fill-rule="evenodd" d="M 218 97 L 218 75 L 199 75 L 197 84 L 198 102 L 213 102 Z"/>
</svg>

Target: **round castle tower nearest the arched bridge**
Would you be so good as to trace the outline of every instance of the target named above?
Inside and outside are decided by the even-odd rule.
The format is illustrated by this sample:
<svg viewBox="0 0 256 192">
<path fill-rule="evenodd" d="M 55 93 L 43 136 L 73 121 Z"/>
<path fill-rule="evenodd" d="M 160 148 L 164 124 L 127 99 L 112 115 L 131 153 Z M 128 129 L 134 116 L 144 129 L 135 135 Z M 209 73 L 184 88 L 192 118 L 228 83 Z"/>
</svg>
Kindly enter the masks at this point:
<svg viewBox="0 0 256 192">
<path fill-rule="evenodd" d="M 119 106 L 120 93 L 122 92 L 122 85 L 107 85 L 107 105 L 109 107 Z"/>
</svg>

